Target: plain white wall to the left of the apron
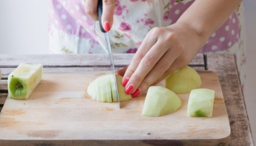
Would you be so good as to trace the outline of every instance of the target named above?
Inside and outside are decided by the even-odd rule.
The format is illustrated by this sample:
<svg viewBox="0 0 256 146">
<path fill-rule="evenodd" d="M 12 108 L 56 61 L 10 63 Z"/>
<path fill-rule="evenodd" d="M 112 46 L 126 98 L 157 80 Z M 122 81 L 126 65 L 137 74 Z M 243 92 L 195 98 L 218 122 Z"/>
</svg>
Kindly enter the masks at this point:
<svg viewBox="0 0 256 146">
<path fill-rule="evenodd" d="M 0 54 L 47 54 L 48 0 L 0 0 Z"/>
</svg>

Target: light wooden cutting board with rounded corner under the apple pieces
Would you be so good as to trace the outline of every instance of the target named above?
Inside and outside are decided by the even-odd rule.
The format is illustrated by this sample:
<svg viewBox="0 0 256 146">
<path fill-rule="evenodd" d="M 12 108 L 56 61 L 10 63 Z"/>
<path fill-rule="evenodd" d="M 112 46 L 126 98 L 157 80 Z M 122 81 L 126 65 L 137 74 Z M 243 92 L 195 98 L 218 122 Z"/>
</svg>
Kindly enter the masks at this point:
<svg viewBox="0 0 256 146">
<path fill-rule="evenodd" d="M 0 113 L 0 143 L 7 140 L 83 140 L 122 144 L 191 141 L 228 145 L 230 125 L 216 73 L 200 71 L 201 88 L 215 90 L 212 118 L 187 116 L 189 94 L 178 95 L 181 107 L 161 117 L 143 117 L 146 94 L 117 103 L 95 101 L 85 93 L 89 82 L 111 72 L 44 73 L 28 100 L 7 98 Z M 164 85 L 164 81 L 159 83 Z M 200 143 L 198 143 L 200 142 Z M 99 144 L 98 143 L 98 144 Z M 91 145 L 93 145 L 91 143 Z M 175 145 L 175 144 L 174 144 Z"/>
</svg>

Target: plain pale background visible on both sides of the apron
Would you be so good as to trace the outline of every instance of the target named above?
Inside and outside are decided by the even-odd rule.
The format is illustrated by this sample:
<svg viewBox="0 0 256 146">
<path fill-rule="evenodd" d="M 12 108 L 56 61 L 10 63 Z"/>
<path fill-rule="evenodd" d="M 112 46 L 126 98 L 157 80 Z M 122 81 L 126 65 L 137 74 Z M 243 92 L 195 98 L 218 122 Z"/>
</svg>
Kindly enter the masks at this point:
<svg viewBox="0 0 256 146">
<path fill-rule="evenodd" d="M 47 54 L 48 0 L 0 0 L 0 54 Z M 245 101 L 256 140 L 256 0 L 245 0 Z"/>
</svg>

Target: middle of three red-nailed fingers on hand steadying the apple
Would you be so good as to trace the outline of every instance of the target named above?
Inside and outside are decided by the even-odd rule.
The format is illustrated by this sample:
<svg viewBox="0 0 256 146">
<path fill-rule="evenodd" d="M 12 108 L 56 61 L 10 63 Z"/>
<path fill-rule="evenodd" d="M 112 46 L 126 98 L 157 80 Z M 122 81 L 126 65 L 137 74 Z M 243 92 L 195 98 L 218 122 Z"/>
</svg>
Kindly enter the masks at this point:
<svg viewBox="0 0 256 146">
<path fill-rule="evenodd" d="M 166 53 L 168 48 L 163 48 L 162 46 L 162 43 L 155 43 L 155 45 L 143 57 L 138 65 L 138 68 L 136 68 L 135 72 L 130 77 L 125 87 L 125 93 L 129 95 L 135 92 L 135 90 L 139 87 L 146 75 L 155 66 L 155 64 L 157 64 L 159 59 L 162 58 L 163 54 Z M 159 51 L 159 49 L 162 50 Z"/>
</svg>

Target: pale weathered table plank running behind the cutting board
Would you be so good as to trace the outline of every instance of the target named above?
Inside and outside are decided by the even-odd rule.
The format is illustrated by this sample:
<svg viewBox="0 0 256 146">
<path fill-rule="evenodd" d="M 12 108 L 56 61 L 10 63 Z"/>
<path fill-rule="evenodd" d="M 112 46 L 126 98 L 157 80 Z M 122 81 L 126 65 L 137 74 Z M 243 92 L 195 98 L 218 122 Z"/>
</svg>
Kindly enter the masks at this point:
<svg viewBox="0 0 256 146">
<path fill-rule="evenodd" d="M 126 66 L 134 54 L 113 54 L 116 67 Z M 203 54 L 198 54 L 191 64 L 204 64 Z M 108 67 L 108 54 L 58 54 L 58 55 L 3 55 L 0 68 L 16 68 L 21 62 L 41 63 L 44 67 Z"/>
</svg>

